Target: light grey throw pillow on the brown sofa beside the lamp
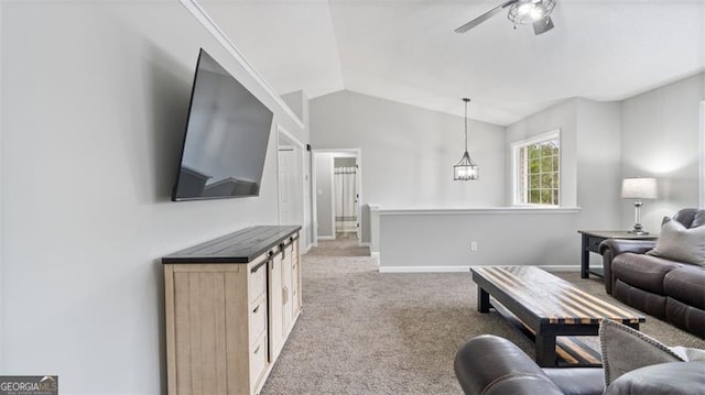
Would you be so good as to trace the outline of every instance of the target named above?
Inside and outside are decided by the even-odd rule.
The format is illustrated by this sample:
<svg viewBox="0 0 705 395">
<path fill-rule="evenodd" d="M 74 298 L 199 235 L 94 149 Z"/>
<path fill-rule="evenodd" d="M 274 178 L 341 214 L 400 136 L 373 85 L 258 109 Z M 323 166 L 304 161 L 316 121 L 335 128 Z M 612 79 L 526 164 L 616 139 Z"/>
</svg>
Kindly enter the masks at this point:
<svg viewBox="0 0 705 395">
<path fill-rule="evenodd" d="M 664 221 L 657 246 L 647 254 L 705 265 L 705 227 L 687 229 L 679 221 Z"/>
</svg>

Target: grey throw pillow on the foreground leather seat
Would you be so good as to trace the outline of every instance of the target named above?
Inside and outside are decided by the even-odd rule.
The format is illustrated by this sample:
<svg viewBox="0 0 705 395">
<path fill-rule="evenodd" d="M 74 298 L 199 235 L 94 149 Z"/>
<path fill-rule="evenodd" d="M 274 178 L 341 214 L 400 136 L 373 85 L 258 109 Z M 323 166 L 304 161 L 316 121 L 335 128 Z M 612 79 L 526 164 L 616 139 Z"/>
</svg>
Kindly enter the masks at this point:
<svg viewBox="0 0 705 395">
<path fill-rule="evenodd" d="M 665 344 L 636 329 L 605 319 L 599 325 L 605 386 L 627 372 L 665 362 L 684 362 Z"/>
</svg>

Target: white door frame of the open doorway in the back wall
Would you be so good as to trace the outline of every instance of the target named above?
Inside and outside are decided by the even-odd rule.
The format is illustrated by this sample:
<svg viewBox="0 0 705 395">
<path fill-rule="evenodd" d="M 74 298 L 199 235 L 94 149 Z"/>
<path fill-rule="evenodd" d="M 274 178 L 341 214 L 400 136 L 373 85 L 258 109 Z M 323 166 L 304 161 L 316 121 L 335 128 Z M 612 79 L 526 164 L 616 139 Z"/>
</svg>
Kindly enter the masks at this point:
<svg viewBox="0 0 705 395">
<path fill-rule="evenodd" d="M 333 154 L 333 158 L 335 160 L 335 154 L 340 154 L 340 157 L 355 157 L 355 163 L 357 164 L 357 177 L 355 179 L 356 188 L 357 188 L 357 241 L 358 245 L 362 245 L 362 150 L 361 149 L 326 149 L 326 150 L 313 150 L 312 158 L 313 164 L 311 166 L 311 175 L 312 175 L 312 216 L 313 216 L 313 245 L 318 245 L 318 180 L 316 178 L 316 169 L 317 169 L 317 156 L 318 154 Z M 330 176 L 333 177 L 334 164 L 330 164 Z M 330 183 L 330 196 L 335 195 L 334 183 Z M 335 199 L 330 199 L 330 212 L 332 212 L 332 229 L 333 229 L 333 239 L 335 239 Z M 321 238 L 325 240 L 324 238 Z"/>
</svg>

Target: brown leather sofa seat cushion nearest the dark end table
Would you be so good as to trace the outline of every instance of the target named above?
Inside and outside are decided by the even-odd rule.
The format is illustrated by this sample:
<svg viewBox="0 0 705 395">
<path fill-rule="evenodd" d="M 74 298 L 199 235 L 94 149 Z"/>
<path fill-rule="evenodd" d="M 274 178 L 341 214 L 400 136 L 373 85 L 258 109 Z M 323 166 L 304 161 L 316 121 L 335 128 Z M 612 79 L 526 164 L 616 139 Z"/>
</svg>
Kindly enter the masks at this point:
<svg viewBox="0 0 705 395">
<path fill-rule="evenodd" d="M 682 266 L 682 263 L 664 257 L 628 252 L 615 256 L 611 268 L 615 278 L 643 290 L 665 295 L 663 277 Z"/>
</svg>

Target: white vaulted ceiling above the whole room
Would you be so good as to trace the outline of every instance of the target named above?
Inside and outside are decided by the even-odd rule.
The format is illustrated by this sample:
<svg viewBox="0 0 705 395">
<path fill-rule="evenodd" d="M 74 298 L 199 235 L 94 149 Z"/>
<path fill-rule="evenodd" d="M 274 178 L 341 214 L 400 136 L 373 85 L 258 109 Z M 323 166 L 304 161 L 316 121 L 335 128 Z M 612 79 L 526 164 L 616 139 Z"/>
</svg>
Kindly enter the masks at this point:
<svg viewBox="0 0 705 395">
<path fill-rule="evenodd" d="M 622 100 L 705 70 L 705 0 L 557 0 L 535 36 L 503 0 L 202 0 L 280 94 L 348 89 L 507 125 L 572 97 Z"/>
</svg>

